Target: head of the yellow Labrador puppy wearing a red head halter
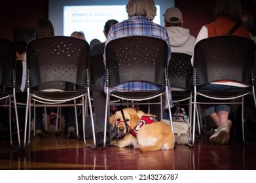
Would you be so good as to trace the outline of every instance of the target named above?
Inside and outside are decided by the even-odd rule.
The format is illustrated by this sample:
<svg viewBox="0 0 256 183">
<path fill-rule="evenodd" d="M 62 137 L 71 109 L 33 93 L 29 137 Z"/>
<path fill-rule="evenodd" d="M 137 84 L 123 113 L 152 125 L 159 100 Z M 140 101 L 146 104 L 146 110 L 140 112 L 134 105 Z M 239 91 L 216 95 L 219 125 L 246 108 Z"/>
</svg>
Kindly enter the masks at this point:
<svg viewBox="0 0 256 183">
<path fill-rule="evenodd" d="M 140 119 L 137 116 L 136 109 L 124 108 L 123 112 L 124 112 L 124 118 L 126 118 L 126 123 L 128 124 L 128 128 L 129 128 L 128 131 L 130 129 L 134 129 L 134 127 L 136 127 L 136 125 L 139 123 L 139 119 Z M 128 131 L 126 131 L 126 125 L 124 123 L 124 119 L 122 118 L 122 113 L 120 110 L 115 112 L 115 114 L 109 118 L 109 122 L 111 123 L 111 125 L 117 127 L 117 133 L 120 133 L 120 132 L 128 133 Z"/>
</svg>

